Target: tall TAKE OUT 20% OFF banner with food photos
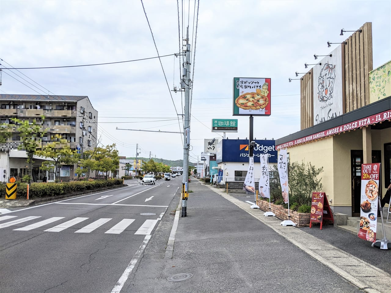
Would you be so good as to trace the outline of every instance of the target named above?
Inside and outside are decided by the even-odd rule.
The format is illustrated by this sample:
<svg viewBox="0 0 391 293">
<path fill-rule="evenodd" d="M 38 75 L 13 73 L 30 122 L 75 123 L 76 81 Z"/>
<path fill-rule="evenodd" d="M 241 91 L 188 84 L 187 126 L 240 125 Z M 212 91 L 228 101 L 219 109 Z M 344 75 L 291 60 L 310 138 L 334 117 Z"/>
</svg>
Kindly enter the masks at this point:
<svg viewBox="0 0 391 293">
<path fill-rule="evenodd" d="M 380 163 L 361 165 L 361 213 L 358 236 L 376 241 Z"/>
</svg>

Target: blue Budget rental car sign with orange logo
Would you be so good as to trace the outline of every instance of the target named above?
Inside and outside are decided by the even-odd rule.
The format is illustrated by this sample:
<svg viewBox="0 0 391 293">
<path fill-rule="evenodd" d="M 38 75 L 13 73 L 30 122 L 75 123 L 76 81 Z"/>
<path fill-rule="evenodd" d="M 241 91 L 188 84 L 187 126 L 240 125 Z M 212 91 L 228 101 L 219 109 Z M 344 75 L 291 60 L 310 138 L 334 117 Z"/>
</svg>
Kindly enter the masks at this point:
<svg viewBox="0 0 391 293">
<path fill-rule="evenodd" d="M 269 163 L 277 163 L 277 150 L 274 140 L 255 139 L 254 162 L 260 162 L 262 154 L 268 154 Z M 247 162 L 249 156 L 249 141 L 247 139 L 222 139 L 217 146 L 216 161 L 221 162 Z"/>
</svg>

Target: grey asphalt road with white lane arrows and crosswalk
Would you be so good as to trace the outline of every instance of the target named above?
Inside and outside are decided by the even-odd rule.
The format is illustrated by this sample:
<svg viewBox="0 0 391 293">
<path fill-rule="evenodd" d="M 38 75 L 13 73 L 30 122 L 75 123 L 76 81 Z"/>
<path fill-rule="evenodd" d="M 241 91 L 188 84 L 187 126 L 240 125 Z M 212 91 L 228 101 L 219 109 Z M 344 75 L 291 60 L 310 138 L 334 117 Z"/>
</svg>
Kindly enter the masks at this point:
<svg viewBox="0 0 391 293">
<path fill-rule="evenodd" d="M 139 183 L 1 215 L 0 291 L 115 291 L 179 198 L 180 179 Z"/>
</svg>

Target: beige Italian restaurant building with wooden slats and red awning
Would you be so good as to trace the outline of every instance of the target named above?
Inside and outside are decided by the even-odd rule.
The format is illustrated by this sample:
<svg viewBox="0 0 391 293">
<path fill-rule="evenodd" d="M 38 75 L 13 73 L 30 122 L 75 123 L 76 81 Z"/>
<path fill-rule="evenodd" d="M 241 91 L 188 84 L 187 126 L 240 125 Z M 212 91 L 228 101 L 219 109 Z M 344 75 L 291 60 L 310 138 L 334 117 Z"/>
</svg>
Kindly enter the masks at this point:
<svg viewBox="0 0 391 293">
<path fill-rule="evenodd" d="M 322 191 L 349 216 L 360 214 L 361 164 L 381 163 L 383 195 L 391 183 L 391 61 L 373 70 L 371 27 L 301 77 L 301 130 L 276 140 L 291 162 L 323 166 Z"/>
</svg>

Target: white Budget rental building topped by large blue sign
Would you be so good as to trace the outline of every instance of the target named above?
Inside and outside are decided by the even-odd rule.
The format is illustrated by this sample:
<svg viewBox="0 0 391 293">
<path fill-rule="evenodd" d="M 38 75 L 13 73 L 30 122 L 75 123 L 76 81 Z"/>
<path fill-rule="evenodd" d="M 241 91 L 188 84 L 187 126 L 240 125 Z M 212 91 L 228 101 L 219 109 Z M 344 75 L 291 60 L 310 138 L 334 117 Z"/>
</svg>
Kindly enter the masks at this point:
<svg viewBox="0 0 391 293">
<path fill-rule="evenodd" d="M 269 170 L 273 164 L 277 163 L 277 150 L 275 141 L 254 140 L 256 145 L 253 149 L 255 182 L 259 181 L 261 175 L 260 156 L 268 154 Z M 243 182 L 249 164 L 249 141 L 248 139 L 222 139 L 216 148 L 217 169 L 223 170 L 221 184 L 226 182 Z"/>
</svg>

